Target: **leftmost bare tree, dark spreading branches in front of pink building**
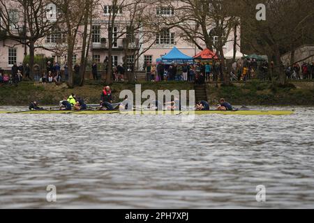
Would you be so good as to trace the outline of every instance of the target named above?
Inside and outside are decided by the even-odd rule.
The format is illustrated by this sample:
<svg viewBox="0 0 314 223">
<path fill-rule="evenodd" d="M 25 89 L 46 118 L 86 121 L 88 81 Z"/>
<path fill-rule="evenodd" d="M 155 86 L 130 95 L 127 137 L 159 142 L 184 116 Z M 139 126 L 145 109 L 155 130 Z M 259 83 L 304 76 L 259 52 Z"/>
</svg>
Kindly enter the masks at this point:
<svg viewBox="0 0 314 223">
<path fill-rule="evenodd" d="M 57 18 L 50 20 L 47 8 L 50 1 L 47 0 L 0 0 L 0 28 L 4 30 L 2 38 L 15 40 L 16 44 L 29 47 L 29 65 L 33 71 L 35 50 L 45 48 L 36 45 L 36 42 L 47 36 L 57 25 Z"/>
</svg>

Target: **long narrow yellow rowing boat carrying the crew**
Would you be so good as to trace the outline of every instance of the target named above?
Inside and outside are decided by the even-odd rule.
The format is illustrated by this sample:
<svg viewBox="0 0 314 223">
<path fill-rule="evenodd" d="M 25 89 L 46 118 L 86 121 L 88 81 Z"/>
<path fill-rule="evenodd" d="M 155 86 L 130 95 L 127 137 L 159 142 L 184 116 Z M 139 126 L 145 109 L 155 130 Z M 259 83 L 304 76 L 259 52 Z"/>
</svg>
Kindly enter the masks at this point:
<svg viewBox="0 0 314 223">
<path fill-rule="evenodd" d="M 143 114 L 143 115 L 207 115 L 207 114 L 223 114 L 223 115 L 291 115 L 294 111 L 289 110 L 248 110 L 248 111 L 100 111 L 100 110 L 85 110 L 85 111 L 60 111 L 60 110 L 37 110 L 37 111 L 0 111 L 0 114 Z"/>
</svg>

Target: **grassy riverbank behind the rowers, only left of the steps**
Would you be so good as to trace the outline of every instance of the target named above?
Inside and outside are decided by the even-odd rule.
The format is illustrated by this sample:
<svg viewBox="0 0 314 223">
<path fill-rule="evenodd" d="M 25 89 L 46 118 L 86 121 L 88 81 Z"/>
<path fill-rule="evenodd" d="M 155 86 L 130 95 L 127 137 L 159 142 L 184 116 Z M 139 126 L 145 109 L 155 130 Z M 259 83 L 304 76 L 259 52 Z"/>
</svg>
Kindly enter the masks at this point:
<svg viewBox="0 0 314 223">
<path fill-rule="evenodd" d="M 40 105 L 59 105 L 63 97 L 68 97 L 71 93 L 84 98 L 89 104 L 99 103 L 100 94 L 105 83 L 89 82 L 82 87 L 68 89 L 66 84 L 57 86 L 56 84 L 33 84 L 22 82 L 18 86 L 4 85 L 0 86 L 0 105 L 29 105 L 32 100 L 38 100 Z M 119 93 L 128 89 L 135 92 L 135 84 L 114 83 L 111 85 L 114 101 L 119 101 Z M 164 83 L 142 83 L 142 91 L 150 89 L 156 92 L 160 89 L 169 89 L 170 91 L 190 90 L 193 84 L 164 82 Z"/>
</svg>

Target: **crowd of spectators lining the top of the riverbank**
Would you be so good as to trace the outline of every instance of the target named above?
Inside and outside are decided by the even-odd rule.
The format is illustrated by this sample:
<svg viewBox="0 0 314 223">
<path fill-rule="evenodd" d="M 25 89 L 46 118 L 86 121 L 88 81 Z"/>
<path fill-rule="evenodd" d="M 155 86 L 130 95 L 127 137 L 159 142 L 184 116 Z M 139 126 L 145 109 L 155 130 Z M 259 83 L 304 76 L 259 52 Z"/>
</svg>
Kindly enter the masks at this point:
<svg viewBox="0 0 314 223">
<path fill-rule="evenodd" d="M 285 77 L 287 79 L 314 79 L 314 62 L 294 63 L 293 66 L 283 66 Z M 73 67 L 75 76 L 79 77 L 80 65 L 75 63 Z M 126 70 L 133 72 L 133 66 L 124 66 L 119 64 L 112 68 L 112 79 L 116 82 L 123 82 Z M 195 82 L 197 84 L 204 84 L 205 82 L 223 82 L 225 76 L 223 75 L 223 68 L 220 61 L 212 61 L 211 63 L 184 63 L 184 64 L 165 64 L 165 63 L 147 63 L 144 66 L 146 73 L 146 80 L 148 82 L 163 82 L 163 81 L 182 81 Z M 239 59 L 232 63 L 230 71 L 231 81 L 246 82 L 250 79 L 260 79 L 260 81 L 271 80 L 271 72 L 274 71 L 274 62 L 256 61 L 255 59 Z M 105 72 L 107 69 L 105 70 Z M 227 70 L 225 70 L 227 72 Z M 91 65 L 91 73 L 95 80 L 98 80 L 98 64 L 94 62 Z M 63 76 L 61 76 L 61 66 L 59 63 L 52 63 L 48 61 L 45 71 L 33 72 L 31 78 L 31 69 L 29 64 L 24 66 L 20 63 L 17 66 L 13 64 L 11 72 L 5 73 L 0 70 L 0 84 L 18 84 L 23 80 L 33 80 L 35 82 L 46 83 L 60 83 L 68 79 L 68 66 L 63 66 Z"/>
</svg>

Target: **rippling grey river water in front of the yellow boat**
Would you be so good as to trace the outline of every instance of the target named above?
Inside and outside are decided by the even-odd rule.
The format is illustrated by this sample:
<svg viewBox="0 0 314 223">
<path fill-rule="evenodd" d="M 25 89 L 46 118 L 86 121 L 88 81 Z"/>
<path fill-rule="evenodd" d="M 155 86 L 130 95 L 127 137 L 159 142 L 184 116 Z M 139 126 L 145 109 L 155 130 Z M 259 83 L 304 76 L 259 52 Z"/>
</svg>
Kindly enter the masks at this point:
<svg viewBox="0 0 314 223">
<path fill-rule="evenodd" d="M 293 109 L 193 120 L 0 114 L 0 208 L 314 208 L 314 108 Z"/>
</svg>

